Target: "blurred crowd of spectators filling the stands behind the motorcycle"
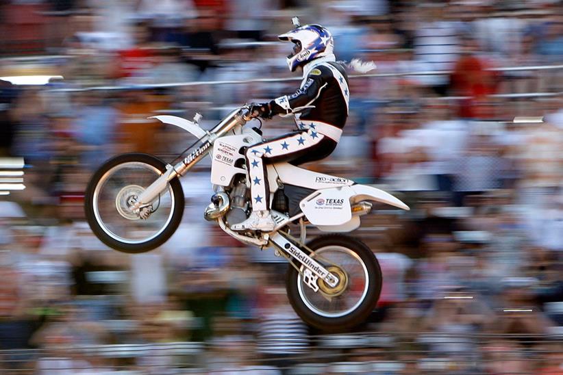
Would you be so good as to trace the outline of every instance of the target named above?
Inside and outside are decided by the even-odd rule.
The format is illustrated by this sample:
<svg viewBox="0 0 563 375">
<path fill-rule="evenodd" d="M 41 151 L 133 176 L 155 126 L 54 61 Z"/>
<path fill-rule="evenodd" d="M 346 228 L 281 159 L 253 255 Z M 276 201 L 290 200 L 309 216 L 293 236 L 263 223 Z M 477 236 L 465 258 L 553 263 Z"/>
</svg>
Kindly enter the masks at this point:
<svg viewBox="0 0 563 375">
<path fill-rule="evenodd" d="M 203 220 L 208 160 L 158 250 L 117 253 L 84 222 L 103 160 L 171 161 L 194 141 L 149 116 L 199 112 L 209 128 L 295 90 L 248 81 L 290 77 L 275 36 L 295 15 L 381 73 L 351 78 L 342 140 L 306 168 L 412 207 L 375 206 L 353 233 L 384 274 L 365 335 L 311 331 L 286 263 Z M 28 167 L 0 197 L 0 349 L 42 349 L 0 352 L 0 372 L 563 374 L 563 71 L 538 68 L 563 61 L 561 1 L 5 0 L 0 57 L 0 157 Z"/>
</svg>

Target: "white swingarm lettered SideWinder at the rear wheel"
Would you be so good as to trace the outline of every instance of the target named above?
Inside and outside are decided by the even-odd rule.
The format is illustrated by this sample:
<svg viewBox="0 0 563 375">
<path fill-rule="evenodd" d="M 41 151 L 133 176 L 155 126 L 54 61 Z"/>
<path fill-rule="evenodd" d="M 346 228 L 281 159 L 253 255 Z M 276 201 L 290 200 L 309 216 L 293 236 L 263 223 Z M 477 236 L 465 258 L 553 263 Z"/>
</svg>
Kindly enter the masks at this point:
<svg viewBox="0 0 563 375">
<path fill-rule="evenodd" d="M 323 279 L 329 287 L 336 287 L 338 285 L 338 277 L 334 274 L 331 274 L 327 271 L 326 268 L 321 266 L 320 263 L 312 259 L 309 255 L 303 253 L 299 247 L 295 246 L 290 240 L 288 240 L 284 235 L 281 233 L 275 233 L 270 237 L 270 241 L 277 247 L 279 250 L 284 251 L 293 259 L 297 259 L 299 263 L 305 266 L 305 271 L 303 272 L 303 281 L 314 290 L 314 292 L 318 291 L 318 285 L 316 280 L 318 277 Z"/>
</svg>

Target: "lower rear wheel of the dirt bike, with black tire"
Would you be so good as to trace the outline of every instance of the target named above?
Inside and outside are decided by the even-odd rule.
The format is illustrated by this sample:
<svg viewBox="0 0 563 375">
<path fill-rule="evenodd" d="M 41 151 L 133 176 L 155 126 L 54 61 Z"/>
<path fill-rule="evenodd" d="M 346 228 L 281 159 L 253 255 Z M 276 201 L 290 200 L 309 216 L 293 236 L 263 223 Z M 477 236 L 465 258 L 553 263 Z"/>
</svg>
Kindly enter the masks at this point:
<svg viewBox="0 0 563 375">
<path fill-rule="evenodd" d="M 342 331 L 364 322 L 381 292 L 381 269 L 375 255 L 347 235 L 324 235 L 307 244 L 312 258 L 340 280 L 329 287 L 318 279 L 318 292 L 308 287 L 294 267 L 288 268 L 290 303 L 306 323 L 323 331 Z M 304 267 L 301 267 L 303 272 Z"/>
</svg>

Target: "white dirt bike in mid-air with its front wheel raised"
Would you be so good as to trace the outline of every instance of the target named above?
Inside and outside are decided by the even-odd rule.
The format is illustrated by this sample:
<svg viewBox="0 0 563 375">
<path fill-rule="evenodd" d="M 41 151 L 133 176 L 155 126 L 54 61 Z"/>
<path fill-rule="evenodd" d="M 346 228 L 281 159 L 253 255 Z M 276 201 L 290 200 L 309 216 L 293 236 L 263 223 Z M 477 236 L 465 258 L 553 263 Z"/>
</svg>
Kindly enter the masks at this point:
<svg viewBox="0 0 563 375">
<path fill-rule="evenodd" d="M 368 201 L 408 210 L 405 203 L 349 179 L 288 163 L 270 164 L 266 168 L 277 226 L 271 233 L 232 231 L 229 227 L 245 220 L 251 209 L 245 149 L 263 142 L 260 129 L 244 126 L 252 118 L 249 106 L 235 109 L 209 131 L 199 126 L 199 114 L 194 121 L 153 118 L 192 133 L 199 145 L 186 157 L 180 155 L 175 165 L 143 153 L 105 161 L 85 196 L 86 218 L 103 243 L 125 253 L 143 253 L 166 242 L 184 211 L 179 179 L 210 154 L 214 194 L 204 218 L 245 244 L 275 248 L 277 256 L 289 261 L 288 298 L 308 324 L 337 331 L 366 319 L 381 292 L 379 263 L 368 246 L 340 233 L 360 226 L 360 216 L 371 211 Z M 290 234 L 290 223 L 299 225 L 299 238 Z M 333 234 L 305 243 L 307 225 Z"/>
</svg>

